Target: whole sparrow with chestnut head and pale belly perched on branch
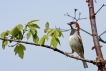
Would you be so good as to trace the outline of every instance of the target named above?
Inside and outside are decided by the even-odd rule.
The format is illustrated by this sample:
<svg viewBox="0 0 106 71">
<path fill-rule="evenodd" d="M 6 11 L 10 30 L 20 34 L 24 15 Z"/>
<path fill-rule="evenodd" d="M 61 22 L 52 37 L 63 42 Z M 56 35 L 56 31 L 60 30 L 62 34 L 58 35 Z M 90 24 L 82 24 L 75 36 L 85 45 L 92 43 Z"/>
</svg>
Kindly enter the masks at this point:
<svg viewBox="0 0 106 71">
<path fill-rule="evenodd" d="M 77 57 L 85 58 L 84 57 L 84 47 L 82 43 L 82 39 L 80 36 L 80 26 L 77 22 L 72 21 L 67 23 L 71 27 L 71 33 L 69 36 L 69 44 L 72 49 L 72 52 L 69 54 L 73 54 L 76 52 L 78 54 Z M 68 52 L 66 52 L 68 54 Z M 88 68 L 88 65 L 85 61 L 82 61 L 84 68 Z"/>
</svg>

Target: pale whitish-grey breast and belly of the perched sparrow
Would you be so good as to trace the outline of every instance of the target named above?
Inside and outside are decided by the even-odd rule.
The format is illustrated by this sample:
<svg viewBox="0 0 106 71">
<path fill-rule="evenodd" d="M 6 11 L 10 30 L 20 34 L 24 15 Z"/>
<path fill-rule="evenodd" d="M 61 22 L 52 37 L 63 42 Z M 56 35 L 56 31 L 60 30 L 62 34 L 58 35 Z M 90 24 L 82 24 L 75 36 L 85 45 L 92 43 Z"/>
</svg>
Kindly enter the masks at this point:
<svg viewBox="0 0 106 71">
<path fill-rule="evenodd" d="M 81 44 L 80 44 L 80 42 L 79 42 L 79 40 L 78 40 L 78 35 L 77 35 L 77 34 L 71 35 L 71 36 L 69 37 L 69 44 L 70 44 L 71 48 L 72 48 L 75 52 L 77 52 L 77 53 L 82 52 L 82 50 L 81 50 Z"/>
</svg>

